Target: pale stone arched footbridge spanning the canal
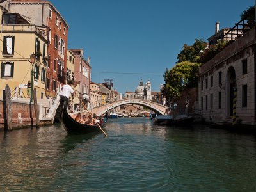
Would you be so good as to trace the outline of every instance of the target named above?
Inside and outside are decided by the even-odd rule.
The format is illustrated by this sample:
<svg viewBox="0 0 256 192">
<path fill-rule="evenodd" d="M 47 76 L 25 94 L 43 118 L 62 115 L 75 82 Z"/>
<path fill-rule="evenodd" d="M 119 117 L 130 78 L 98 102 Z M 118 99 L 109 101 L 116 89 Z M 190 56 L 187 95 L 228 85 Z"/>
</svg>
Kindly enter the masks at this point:
<svg viewBox="0 0 256 192">
<path fill-rule="evenodd" d="M 132 100 L 116 100 L 115 102 L 109 102 L 108 104 L 104 104 L 104 106 L 99 106 L 91 109 L 92 113 L 100 115 L 102 113 L 106 113 L 107 111 L 114 109 L 118 106 L 124 106 L 127 104 L 134 104 L 138 106 L 147 107 L 148 109 L 154 111 L 158 115 L 164 115 L 166 109 L 168 107 L 158 104 L 156 102 L 151 102 L 148 100 L 141 100 L 141 99 L 132 99 Z"/>
</svg>

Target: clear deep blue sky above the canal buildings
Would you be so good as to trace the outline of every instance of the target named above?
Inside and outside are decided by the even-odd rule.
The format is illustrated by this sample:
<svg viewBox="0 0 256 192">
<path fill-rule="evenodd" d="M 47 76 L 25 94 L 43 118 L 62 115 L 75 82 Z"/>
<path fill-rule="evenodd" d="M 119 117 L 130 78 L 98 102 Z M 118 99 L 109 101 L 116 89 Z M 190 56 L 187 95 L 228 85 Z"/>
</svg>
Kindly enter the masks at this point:
<svg viewBox="0 0 256 192">
<path fill-rule="evenodd" d="M 140 78 L 152 91 L 164 83 L 184 44 L 214 34 L 215 23 L 232 28 L 255 0 L 51 1 L 70 28 L 68 49 L 90 57 L 92 81 L 113 79 L 120 93 L 134 92 Z"/>
</svg>

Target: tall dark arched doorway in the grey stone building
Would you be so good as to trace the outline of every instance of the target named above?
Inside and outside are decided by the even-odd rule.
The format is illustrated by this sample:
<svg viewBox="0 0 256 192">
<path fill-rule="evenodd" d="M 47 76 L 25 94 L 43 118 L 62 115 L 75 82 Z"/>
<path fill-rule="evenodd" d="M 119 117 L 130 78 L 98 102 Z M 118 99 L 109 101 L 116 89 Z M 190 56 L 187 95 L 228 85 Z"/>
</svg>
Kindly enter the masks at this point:
<svg viewBox="0 0 256 192">
<path fill-rule="evenodd" d="M 234 87 L 236 86 L 236 71 L 234 67 L 228 68 L 226 80 L 227 116 L 233 116 Z"/>
</svg>

